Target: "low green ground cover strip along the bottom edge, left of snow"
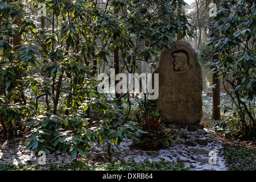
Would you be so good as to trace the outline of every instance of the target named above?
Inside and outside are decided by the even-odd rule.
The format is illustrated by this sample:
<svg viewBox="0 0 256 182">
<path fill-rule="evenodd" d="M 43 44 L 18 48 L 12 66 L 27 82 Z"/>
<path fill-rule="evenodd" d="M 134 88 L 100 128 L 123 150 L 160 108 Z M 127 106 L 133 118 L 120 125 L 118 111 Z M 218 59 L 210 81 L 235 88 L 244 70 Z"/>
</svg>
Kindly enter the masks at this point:
<svg viewBox="0 0 256 182">
<path fill-rule="evenodd" d="M 108 165 L 102 165 L 100 167 L 88 166 L 81 160 L 74 159 L 71 164 L 63 167 L 49 166 L 47 169 L 40 169 L 40 166 L 25 167 L 24 165 L 15 164 L 3 164 L 0 163 L 0 171 L 35 171 L 35 170 L 47 170 L 47 171 L 188 171 L 189 168 L 184 167 L 183 163 L 170 162 L 161 159 L 159 162 L 142 163 L 130 162 L 112 162 Z"/>
</svg>

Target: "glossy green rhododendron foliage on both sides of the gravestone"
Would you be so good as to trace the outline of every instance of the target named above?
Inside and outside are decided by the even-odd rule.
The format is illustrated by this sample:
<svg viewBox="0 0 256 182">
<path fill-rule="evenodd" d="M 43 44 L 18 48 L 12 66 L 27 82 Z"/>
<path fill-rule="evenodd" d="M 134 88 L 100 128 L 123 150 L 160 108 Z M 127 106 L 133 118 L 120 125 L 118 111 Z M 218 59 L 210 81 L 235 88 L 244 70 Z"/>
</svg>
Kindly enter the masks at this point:
<svg viewBox="0 0 256 182">
<path fill-rule="evenodd" d="M 205 79 L 214 73 L 230 85 L 229 120 L 217 126 L 254 138 L 255 2 L 217 1 L 212 19 L 208 1 L 195 2 L 188 21 L 182 0 L 1 1 L 0 133 L 29 134 L 27 148 L 47 154 L 59 149 L 75 158 L 94 142 L 112 155 L 123 138 L 145 131 L 130 94 L 98 93 L 98 73 L 139 73 L 141 61 L 155 68 L 176 38 L 195 38 L 202 67 L 217 55 L 212 72 L 203 68 Z"/>
</svg>

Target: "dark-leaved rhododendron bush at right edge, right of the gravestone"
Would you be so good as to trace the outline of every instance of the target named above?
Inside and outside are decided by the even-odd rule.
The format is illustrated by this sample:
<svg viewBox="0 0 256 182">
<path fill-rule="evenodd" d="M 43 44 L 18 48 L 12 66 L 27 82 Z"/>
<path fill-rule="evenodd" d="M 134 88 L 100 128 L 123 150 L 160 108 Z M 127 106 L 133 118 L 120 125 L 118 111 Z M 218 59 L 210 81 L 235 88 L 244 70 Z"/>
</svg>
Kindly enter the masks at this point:
<svg viewBox="0 0 256 182">
<path fill-rule="evenodd" d="M 231 109 L 233 117 L 238 118 L 234 133 L 245 138 L 255 137 L 256 126 L 255 16 L 254 1 L 222 1 L 210 39 L 218 54 L 218 61 L 213 63 L 215 73 L 232 86 L 225 89 L 234 107 L 226 106 L 225 111 Z"/>
</svg>

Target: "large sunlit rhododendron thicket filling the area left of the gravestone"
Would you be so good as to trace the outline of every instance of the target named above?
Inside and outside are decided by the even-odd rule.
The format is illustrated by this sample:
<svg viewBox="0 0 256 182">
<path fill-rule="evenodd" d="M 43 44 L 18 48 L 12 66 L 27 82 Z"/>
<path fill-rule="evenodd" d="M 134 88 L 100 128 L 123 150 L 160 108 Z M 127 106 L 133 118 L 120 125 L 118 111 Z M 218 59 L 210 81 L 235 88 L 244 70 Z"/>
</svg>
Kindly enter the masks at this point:
<svg viewBox="0 0 256 182">
<path fill-rule="evenodd" d="M 184 2 L 1 1 L 1 133 L 29 132 L 27 148 L 74 158 L 90 142 L 111 153 L 123 138 L 141 135 L 122 106 L 131 107 L 129 94 L 99 94 L 96 76 L 101 67 L 135 73 L 139 61 L 158 61 L 176 34 L 191 35 L 178 4 Z"/>
</svg>

